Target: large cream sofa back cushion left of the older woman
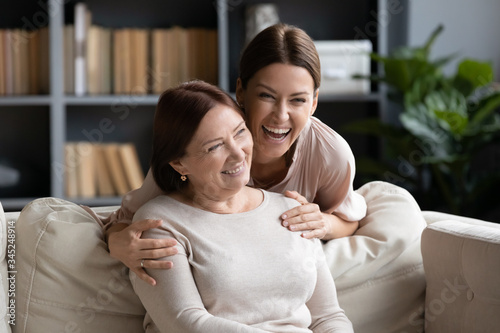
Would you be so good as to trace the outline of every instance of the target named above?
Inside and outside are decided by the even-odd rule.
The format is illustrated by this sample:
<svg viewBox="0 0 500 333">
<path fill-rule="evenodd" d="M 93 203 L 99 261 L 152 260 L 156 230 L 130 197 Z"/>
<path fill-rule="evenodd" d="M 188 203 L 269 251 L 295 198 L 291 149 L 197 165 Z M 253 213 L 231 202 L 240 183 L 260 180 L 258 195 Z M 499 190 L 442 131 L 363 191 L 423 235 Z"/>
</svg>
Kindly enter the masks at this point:
<svg viewBox="0 0 500 333">
<path fill-rule="evenodd" d="M 145 310 L 102 227 L 71 202 L 37 199 L 17 221 L 15 332 L 143 332 Z"/>
</svg>

